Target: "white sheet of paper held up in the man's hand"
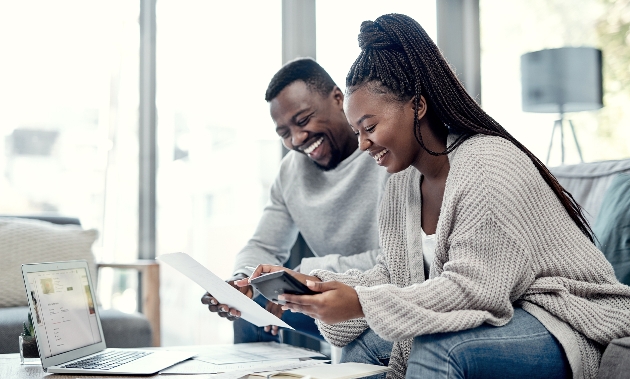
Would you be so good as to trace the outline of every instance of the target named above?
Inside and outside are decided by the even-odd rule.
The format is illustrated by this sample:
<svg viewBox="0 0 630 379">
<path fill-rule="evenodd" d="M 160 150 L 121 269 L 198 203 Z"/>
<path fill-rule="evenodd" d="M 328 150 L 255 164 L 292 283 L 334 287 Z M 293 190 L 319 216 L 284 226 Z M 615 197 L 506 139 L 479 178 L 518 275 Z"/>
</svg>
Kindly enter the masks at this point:
<svg viewBox="0 0 630 379">
<path fill-rule="evenodd" d="M 286 322 L 267 312 L 255 301 L 213 274 L 190 255 L 186 253 L 164 254 L 157 259 L 192 279 L 211 293 L 221 304 L 227 304 L 230 308 L 238 309 L 242 319 L 256 326 L 277 325 L 293 329 Z"/>
</svg>

